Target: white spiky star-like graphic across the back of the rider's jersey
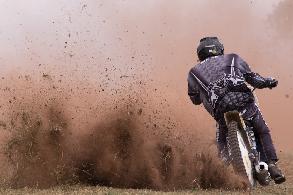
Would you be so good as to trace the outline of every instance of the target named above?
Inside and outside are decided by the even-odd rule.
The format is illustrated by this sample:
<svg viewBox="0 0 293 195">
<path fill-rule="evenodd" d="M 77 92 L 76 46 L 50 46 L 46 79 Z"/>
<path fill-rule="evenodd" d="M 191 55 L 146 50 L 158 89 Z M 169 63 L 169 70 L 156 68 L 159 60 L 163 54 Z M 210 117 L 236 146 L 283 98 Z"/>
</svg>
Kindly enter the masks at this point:
<svg viewBox="0 0 293 195">
<path fill-rule="evenodd" d="M 215 91 L 219 91 L 218 92 L 219 94 L 221 94 L 222 92 L 225 92 L 230 80 L 233 86 L 237 86 L 245 82 L 242 77 L 235 75 L 234 58 L 232 59 L 232 64 L 231 64 L 231 74 L 226 75 L 224 73 L 224 76 L 222 78 L 218 79 L 217 81 L 213 83 L 209 81 L 209 85 L 207 87 L 194 74 L 193 76 L 200 83 L 200 85 L 205 89 L 205 91 L 209 94 L 209 102 L 213 109 L 215 108 L 216 102 L 219 98 L 219 96 L 215 93 Z"/>
</svg>

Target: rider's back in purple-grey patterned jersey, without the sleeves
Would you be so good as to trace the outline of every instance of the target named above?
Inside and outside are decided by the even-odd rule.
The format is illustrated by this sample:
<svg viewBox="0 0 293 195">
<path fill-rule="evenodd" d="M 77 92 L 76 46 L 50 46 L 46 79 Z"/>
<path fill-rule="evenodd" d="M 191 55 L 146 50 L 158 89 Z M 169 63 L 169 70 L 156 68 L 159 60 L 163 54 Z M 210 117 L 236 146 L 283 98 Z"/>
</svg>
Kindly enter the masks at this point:
<svg viewBox="0 0 293 195">
<path fill-rule="evenodd" d="M 244 75 L 250 72 L 249 65 L 237 54 L 225 54 L 201 61 L 190 70 L 188 80 L 192 88 L 200 89 L 201 95 L 208 100 L 206 102 L 216 111 L 223 99 L 226 101 L 225 105 L 253 102 L 253 96 L 244 78 Z M 229 102 L 230 96 L 235 96 L 235 93 L 239 97 Z M 249 97 L 241 98 L 245 95 Z"/>
</svg>

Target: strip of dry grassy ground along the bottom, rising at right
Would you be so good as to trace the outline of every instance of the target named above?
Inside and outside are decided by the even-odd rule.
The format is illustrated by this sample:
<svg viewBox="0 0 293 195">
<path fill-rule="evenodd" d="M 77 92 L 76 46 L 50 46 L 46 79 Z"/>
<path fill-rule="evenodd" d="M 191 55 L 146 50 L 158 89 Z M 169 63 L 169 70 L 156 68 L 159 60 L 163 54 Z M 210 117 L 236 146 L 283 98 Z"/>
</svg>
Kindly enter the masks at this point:
<svg viewBox="0 0 293 195">
<path fill-rule="evenodd" d="M 293 182 L 291 169 L 293 153 L 282 153 L 279 155 L 279 165 L 286 176 L 286 182 L 283 184 L 275 184 L 270 182 L 267 187 L 260 186 L 255 190 L 247 189 L 243 191 L 235 191 L 230 189 L 193 189 L 193 190 L 180 190 L 180 191 L 154 191 L 151 189 L 118 189 L 111 187 L 101 186 L 87 186 L 87 185 L 74 185 L 74 186 L 57 186 L 49 189 L 6 189 L 1 190 L 2 194 L 103 194 L 103 195 L 132 195 L 132 194 L 149 194 L 149 195 L 183 195 L 183 194 L 293 194 Z"/>
</svg>

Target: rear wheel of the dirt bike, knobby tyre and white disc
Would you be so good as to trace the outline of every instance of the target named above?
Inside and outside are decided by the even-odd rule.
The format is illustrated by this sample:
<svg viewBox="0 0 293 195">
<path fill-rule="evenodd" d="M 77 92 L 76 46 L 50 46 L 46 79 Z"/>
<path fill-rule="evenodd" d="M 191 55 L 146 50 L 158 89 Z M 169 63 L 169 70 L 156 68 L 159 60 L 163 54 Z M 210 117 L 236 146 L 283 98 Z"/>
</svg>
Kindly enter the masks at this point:
<svg viewBox="0 0 293 195">
<path fill-rule="evenodd" d="M 250 161 L 248 147 L 249 143 L 246 143 L 240 133 L 240 127 L 237 122 L 232 121 L 228 125 L 228 134 L 231 145 L 232 157 L 236 171 L 239 175 L 242 175 L 248 180 L 250 186 L 256 188 L 256 178 L 254 177 L 254 167 Z"/>
</svg>

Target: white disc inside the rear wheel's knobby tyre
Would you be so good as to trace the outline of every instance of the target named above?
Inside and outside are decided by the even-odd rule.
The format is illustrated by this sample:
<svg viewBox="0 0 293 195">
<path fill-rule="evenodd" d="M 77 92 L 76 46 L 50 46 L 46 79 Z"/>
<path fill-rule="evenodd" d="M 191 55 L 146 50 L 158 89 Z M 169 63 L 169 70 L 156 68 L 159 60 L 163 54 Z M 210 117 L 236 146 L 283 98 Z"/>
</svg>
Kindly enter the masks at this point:
<svg viewBox="0 0 293 195">
<path fill-rule="evenodd" d="M 253 184 L 254 183 L 253 169 L 251 167 L 251 161 L 249 159 L 248 149 L 246 148 L 246 146 L 244 144 L 243 137 L 239 131 L 237 131 L 237 139 L 239 141 L 241 156 L 243 159 L 243 163 L 244 163 L 244 167 L 245 167 L 245 170 L 247 173 L 248 180 L 251 184 Z"/>
</svg>

